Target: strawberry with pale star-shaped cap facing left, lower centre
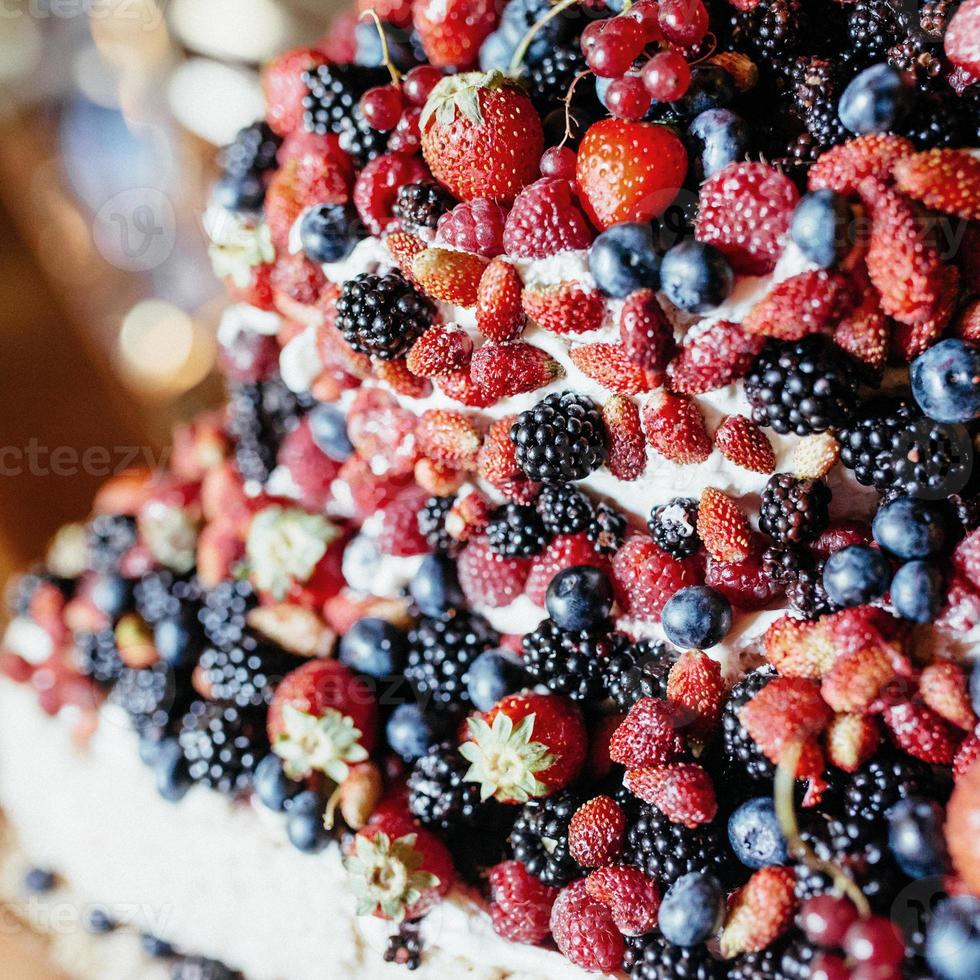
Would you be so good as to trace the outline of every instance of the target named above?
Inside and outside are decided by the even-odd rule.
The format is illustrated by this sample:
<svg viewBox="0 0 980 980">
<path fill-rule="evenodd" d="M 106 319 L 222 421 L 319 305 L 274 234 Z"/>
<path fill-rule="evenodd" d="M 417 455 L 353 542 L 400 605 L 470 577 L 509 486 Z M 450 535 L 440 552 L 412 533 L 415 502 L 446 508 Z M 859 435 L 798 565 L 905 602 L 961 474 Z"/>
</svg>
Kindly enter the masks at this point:
<svg viewBox="0 0 980 980">
<path fill-rule="evenodd" d="M 578 709 L 557 694 L 509 694 L 467 722 L 460 754 L 480 796 L 526 803 L 563 789 L 578 775 L 588 740 Z"/>
</svg>

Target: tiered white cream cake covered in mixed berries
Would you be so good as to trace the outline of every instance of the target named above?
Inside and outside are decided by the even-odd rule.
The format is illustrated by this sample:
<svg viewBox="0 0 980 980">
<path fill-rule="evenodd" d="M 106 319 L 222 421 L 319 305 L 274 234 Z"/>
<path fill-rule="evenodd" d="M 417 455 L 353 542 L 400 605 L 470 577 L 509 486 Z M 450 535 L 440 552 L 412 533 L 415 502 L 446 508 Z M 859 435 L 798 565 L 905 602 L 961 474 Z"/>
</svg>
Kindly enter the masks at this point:
<svg viewBox="0 0 980 980">
<path fill-rule="evenodd" d="M 980 976 L 980 0 L 384 0 L 264 88 L 227 403 L 11 587 L 6 896 L 101 978 Z"/>
</svg>

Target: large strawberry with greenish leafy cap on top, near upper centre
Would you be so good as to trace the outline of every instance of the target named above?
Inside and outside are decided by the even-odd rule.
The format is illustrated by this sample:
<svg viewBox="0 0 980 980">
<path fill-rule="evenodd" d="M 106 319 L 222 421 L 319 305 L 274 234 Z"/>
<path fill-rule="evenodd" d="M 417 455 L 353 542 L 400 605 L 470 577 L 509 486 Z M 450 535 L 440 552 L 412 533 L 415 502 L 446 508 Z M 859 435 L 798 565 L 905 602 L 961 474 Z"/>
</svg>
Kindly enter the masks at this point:
<svg viewBox="0 0 980 980">
<path fill-rule="evenodd" d="M 461 201 L 510 204 L 537 176 L 541 119 L 524 91 L 500 72 L 444 78 L 430 93 L 420 125 L 426 163 Z"/>
</svg>

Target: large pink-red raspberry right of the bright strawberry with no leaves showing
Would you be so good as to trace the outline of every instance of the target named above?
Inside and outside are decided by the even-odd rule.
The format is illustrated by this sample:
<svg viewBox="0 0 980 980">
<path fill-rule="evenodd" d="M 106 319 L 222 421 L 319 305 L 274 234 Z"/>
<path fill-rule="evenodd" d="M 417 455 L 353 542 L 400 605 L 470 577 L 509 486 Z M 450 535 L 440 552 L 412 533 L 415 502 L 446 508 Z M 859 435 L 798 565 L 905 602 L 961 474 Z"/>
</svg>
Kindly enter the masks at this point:
<svg viewBox="0 0 980 980">
<path fill-rule="evenodd" d="M 765 163 L 731 163 L 702 185 L 695 234 L 736 272 L 772 272 L 799 200 L 796 185 Z"/>
</svg>

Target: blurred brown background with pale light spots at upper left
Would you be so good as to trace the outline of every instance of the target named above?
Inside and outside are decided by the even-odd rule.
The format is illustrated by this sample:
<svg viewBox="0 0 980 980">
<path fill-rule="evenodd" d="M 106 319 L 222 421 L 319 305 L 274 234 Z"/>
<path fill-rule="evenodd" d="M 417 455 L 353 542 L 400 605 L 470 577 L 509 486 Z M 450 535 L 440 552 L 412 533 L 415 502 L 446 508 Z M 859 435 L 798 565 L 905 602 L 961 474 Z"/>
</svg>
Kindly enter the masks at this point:
<svg viewBox="0 0 980 980">
<path fill-rule="evenodd" d="M 220 399 L 215 149 L 340 6 L 0 0 L 0 581 Z"/>
</svg>

